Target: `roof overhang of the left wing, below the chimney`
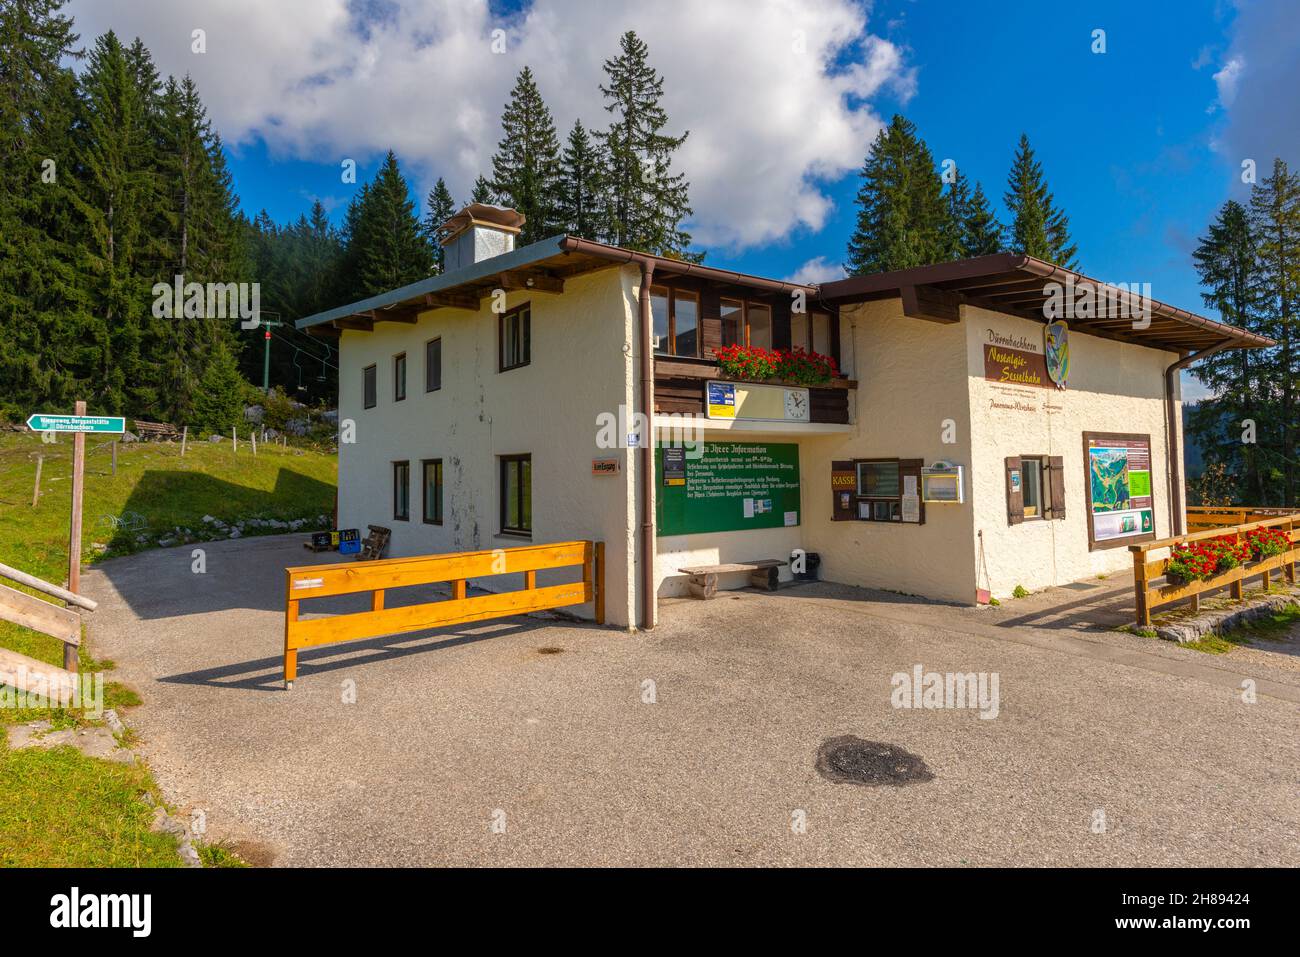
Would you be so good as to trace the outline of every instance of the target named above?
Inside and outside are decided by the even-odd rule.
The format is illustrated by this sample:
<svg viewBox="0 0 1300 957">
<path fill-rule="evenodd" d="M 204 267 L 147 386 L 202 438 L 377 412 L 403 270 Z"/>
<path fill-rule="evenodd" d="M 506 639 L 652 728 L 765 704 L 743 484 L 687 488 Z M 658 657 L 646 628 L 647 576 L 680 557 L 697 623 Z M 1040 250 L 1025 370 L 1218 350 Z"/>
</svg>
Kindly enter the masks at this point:
<svg viewBox="0 0 1300 957">
<path fill-rule="evenodd" d="M 805 293 L 815 299 L 816 287 L 798 282 L 766 280 L 759 276 L 714 269 L 666 256 L 606 246 L 590 239 L 556 235 L 532 246 L 485 259 L 464 269 L 412 282 L 408 286 L 361 299 L 335 309 L 300 319 L 296 328 L 313 335 L 337 337 L 344 329 L 370 332 L 376 322 L 415 322 L 421 312 L 437 308 L 478 311 L 495 290 L 563 293 L 564 281 L 581 273 L 636 264 L 653 268 L 655 281 L 699 280 L 755 295 Z"/>
</svg>

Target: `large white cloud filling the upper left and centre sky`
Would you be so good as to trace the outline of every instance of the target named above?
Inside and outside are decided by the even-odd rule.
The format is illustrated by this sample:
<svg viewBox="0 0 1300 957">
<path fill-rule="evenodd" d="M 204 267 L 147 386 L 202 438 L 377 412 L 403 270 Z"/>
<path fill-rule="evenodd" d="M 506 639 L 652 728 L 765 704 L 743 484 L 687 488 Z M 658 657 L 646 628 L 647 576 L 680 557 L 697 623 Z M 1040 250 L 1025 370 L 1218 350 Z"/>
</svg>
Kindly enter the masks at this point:
<svg viewBox="0 0 1300 957">
<path fill-rule="evenodd" d="M 679 160 L 696 239 L 733 250 L 820 229 L 822 182 L 855 169 L 880 129 L 871 98 L 915 88 L 855 0 L 534 0 L 506 21 L 485 0 L 73 0 L 70 10 L 87 46 L 108 29 L 139 35 L 164 73 L 191 73 L 233 148 L 261 138 L 273 155 L 335 163 L 391 147 L 421 186 L 445 176 L 458 198 L 489 168 L 521 66 L 562 133 L 577 117 L 603 126 L 601 65 L 634 29 L 666 78 L 670 131 L 690 130 Z M 195 29 L 207 53 L 190 49 Z"/>
</svg>

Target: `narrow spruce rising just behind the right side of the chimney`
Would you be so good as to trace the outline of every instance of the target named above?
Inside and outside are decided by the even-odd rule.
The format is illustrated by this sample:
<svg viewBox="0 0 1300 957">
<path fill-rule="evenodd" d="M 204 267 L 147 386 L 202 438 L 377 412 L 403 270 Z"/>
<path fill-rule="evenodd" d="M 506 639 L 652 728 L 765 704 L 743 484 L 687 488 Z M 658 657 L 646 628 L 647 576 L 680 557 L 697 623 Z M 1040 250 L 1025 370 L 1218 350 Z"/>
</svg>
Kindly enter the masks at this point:
<svg viewBox="0 0 1300 957">
<path fill-rule="evenodd" d="M 520 70 L 500 116 L 502 139 L 493 156 L 493 191 L 524 215 L 523 246 L 554 235 L 559 178 L 559 140 L 533 72 Z"/>
</svg>

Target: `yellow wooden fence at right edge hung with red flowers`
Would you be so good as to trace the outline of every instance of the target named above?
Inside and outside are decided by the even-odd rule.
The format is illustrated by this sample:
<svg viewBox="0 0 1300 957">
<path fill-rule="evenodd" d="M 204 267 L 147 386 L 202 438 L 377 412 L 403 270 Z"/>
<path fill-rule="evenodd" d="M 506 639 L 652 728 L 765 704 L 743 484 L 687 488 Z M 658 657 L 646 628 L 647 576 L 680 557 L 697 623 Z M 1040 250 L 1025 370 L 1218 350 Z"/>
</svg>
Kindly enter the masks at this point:
<svg viewBox="0 0 1300 957">
<path fill-rule="evenodd" d="M 1138 624 L 1147 627 L 1150 624 L 1152 611 L 1161 605 L 1170 605 L 1184 598 L 1191 599 L 1192 610 L 1200 610 L 1201 594 L 1214 592 L 1221 588 L 1230 588 L 1232 598 L 1242 601 L 1245 594 L 1248 579 L 1260 576 L 1261 584 L 1268 588 L 1273 580 L 1273 572 L 1278 568 L 1286 580 L 1295 584 L 1296 562 L 1300 562 L 1300 512 L 1280 508 L 1188 508 L 1187 527 L 1201 528 L 1200 532 L 1178 536 L 1175 538 L 1160 538 L 1141 545 L 1130 545 L 1128 551 L 1134 557 L 1134 598 Z M 1195 512 L 1195 515 L 1193 515 Z M 1244 518 L 1245 521 L 1234 524 L 1219 524 L 1221 519 Z M 1152 559 L 1149 553 L 1161 549 L 1173 549 L 1175 545 L 1187 545 L 1205 541 L 1208 538 L 1231 537 L 1242 542 L 1249 532 L 1257 528 L 1277 528 L 1286 533 L 1291 546 L 1279 555 L 1271 555 L 1258 562 L 1240 564 L 1218 572 L 1205 581 L 1188 581 L 1186 584 L 1153 585 L 1157 579 L 1164 577 L 1169 566 L 1169 557 Z"/>
</svg>

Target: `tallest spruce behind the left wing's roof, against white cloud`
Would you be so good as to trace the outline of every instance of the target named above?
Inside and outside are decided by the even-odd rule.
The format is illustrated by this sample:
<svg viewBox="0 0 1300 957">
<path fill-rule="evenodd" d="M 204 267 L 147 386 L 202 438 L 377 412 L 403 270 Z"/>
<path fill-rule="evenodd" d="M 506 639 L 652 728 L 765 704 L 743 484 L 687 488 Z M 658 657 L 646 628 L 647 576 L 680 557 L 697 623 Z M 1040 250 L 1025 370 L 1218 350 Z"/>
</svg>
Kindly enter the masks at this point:
<svg viewBox="0 0 1300 957">
<path fill-rule="evenodd" d="M 650 66 L 646 44 L 632 30 L 619 39 L 619 56 L 604 61 L 601 85 L 610 127 L 597 131 L 604 156 L 604 238 L 616 246 L 663 256 L 688 255 L 690 234 L 681 224 L 690 216 L 690 183 L 672 172 L 673 153 L 689 133 L 664 133 L 668 114 L 660 105 L 663 77 Z"/>
</svg>

